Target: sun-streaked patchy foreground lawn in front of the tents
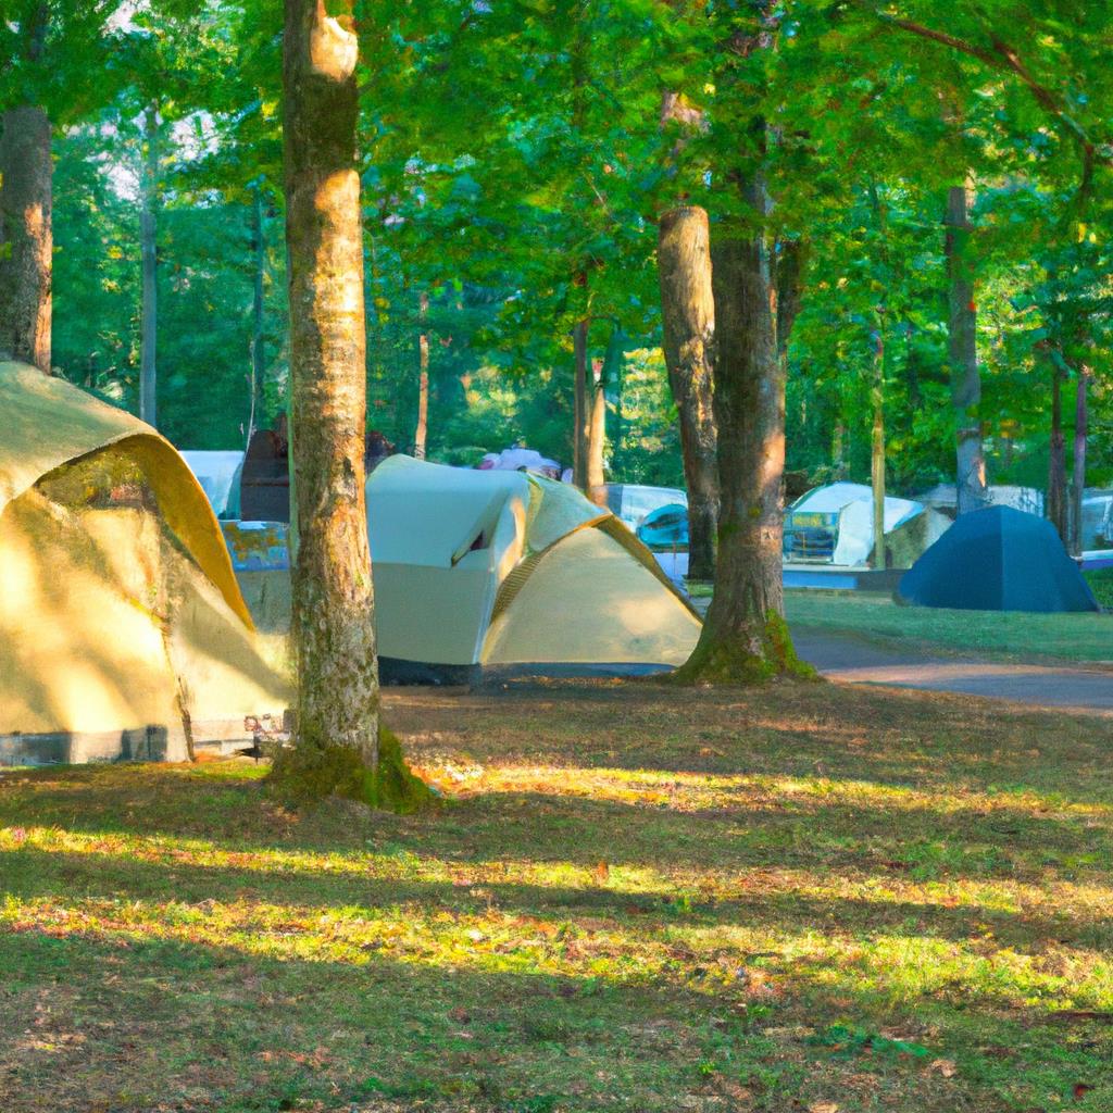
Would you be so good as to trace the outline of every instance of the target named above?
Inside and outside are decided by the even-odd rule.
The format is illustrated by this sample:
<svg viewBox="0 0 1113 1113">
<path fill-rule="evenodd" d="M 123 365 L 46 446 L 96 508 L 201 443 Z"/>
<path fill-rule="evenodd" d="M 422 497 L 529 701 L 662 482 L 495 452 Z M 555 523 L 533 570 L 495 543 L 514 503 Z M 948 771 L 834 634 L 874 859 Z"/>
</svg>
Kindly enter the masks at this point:
<svg viewBox="0 0 1113 1113">
<path fill-rule="evenodd" d="M 1113 1107 L 1107 723 L 779 684 L 386 696 L 445 792 L 0 776 L 0 1109 Z"/>
</svg>

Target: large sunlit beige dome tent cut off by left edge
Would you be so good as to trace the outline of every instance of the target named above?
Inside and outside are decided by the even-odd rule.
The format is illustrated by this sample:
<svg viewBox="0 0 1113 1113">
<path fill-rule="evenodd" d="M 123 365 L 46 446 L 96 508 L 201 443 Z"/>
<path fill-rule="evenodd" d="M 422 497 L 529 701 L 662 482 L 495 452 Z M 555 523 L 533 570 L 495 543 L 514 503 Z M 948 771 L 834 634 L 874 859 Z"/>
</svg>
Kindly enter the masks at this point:
<svg viewBox="0 0 1113 1113">
<path fill-rule="evenodd" d="M 280 717 L 204 492 L 142 422 L 0 363 L 0 765 L 249 739 Z"/>
</svg>

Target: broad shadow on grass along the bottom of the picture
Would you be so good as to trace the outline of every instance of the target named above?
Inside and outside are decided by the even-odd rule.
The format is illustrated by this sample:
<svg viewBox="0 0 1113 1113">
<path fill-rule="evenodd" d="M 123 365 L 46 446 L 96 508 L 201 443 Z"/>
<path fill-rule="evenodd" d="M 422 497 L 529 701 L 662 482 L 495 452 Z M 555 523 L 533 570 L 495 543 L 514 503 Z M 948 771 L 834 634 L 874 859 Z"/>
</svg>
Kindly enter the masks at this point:
<svg viewBox="0 0 1113 1113">
<path fill-rule="evenodd" d="M 772 1111 L 836 1091 L 847 1111 L 875 1109 L 884 1093 L 886 1107 L 989 1113 L 1006 1107 L 998 1086 L 1020 1066 L 1040 1064 L 1044 1090 L 1081 1068 L 1062 1054 L 1046 1066 L 1061 1031 L 992 1009 L 902 1008 L 884 992 L 854 992 L 846 977 L 826 987 L 801 979 L 751 999 L 748 1016 L 737 994 L 651 978 L 613 984 L 378 954 L 362 965 L 276 961 L 233 943 L 60 932 L 0 936 L 0 973 L 4 1113 L 347 1111 L 384 1095 L 504 1113 Z M 851 1080 L 845 1054 L 809 1035 L 836 1021 L 875 1033 L 903 1025 L 925 1057 L 867 1047 L 855 1064 L 865 1074 Z M 974 1031 L 1011 1062 L 972 1056 Z M 936 1054 L 964 1070 L 929 1070 Z"/>
</svg>

